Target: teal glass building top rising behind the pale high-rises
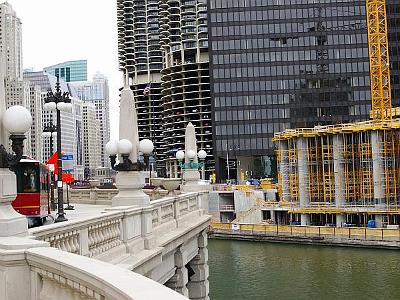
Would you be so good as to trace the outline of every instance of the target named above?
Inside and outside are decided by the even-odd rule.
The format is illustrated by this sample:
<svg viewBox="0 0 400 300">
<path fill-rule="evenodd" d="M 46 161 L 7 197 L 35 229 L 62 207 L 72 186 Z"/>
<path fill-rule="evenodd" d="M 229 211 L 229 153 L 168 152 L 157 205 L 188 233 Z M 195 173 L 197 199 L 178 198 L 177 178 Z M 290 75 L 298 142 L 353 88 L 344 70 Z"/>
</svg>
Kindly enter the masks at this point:
<svg viewBox="0 0 400 300">
<path fill-rule="evenodd" d="M 87 61 L 71 60 L 60 64 L 43 68 L 51 75 L 59 76 L 65 82 L 86 81 L 87 80 Z"/>
</svg>

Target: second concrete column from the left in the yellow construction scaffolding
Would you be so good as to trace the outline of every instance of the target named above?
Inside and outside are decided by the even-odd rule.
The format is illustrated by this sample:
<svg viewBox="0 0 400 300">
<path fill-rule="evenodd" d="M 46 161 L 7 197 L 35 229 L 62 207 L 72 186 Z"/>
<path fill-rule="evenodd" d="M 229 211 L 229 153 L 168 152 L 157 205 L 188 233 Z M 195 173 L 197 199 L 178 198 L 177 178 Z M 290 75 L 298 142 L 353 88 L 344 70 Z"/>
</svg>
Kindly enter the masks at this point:
<svg viewBox="0 0 400 300">
<path fill-rule="evenodd" d="M 297 172 L 299 178 L 299 200 L 300 208 L 308 207 L 310 204 L 310 192 L 308 185 L 308 160 L 307 160 L 307 140 L 298 138 L 297 146 Z M 307 214 L 301 215 L 301 225 L 309 225 L 310 216 Z"/>
</svg>

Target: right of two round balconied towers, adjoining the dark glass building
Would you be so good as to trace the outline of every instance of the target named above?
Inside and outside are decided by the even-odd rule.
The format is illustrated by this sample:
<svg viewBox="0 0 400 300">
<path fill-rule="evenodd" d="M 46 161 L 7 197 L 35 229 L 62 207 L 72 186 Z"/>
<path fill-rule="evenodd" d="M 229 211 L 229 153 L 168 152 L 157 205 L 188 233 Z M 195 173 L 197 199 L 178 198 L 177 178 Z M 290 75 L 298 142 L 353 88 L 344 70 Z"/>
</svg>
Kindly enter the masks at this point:
<svg viewBox="0 0 400 300">
<path fill-rule="evenodd" d="M 167 170 L 173 170 L 173 154 L 184 149 L 188 122 L 196 127 L 198 148 L 207 154 L 206 170 L 213 169 L 211 98 L 206 0 L 161 0 L 160 43 L 164 68 L 164 105 Z M 174 174 L 170 174 L 174 175 Z"/>
</svg>

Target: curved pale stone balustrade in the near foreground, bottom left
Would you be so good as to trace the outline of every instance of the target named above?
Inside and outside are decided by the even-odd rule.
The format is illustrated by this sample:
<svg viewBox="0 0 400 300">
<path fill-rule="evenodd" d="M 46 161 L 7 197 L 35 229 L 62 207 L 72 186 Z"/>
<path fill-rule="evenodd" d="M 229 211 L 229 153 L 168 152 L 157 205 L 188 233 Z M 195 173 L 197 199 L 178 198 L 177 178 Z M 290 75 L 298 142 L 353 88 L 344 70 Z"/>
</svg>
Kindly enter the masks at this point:
<svg viewBox="0 0 400 300">
<path fill-rule="evenodd" d="M 28 238 L 0 238 L 1 299 L 187 299 L 142 275 Z"/>
</svg>

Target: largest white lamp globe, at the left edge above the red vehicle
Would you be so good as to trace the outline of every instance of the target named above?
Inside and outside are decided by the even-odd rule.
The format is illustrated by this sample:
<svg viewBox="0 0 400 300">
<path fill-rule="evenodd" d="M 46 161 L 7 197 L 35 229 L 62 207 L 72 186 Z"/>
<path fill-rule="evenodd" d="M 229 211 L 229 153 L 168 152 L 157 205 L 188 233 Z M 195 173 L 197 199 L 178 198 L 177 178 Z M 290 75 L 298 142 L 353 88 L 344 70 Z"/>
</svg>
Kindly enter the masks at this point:
<svg viewBox="0 0 400 300">
<path fill-rule="evenodd" d="M 32 116 L 23 106 L 11 106 L 3 114 L 3 125 L 11 134 L 24 134 L 32 126 Z"/>
</svg>

